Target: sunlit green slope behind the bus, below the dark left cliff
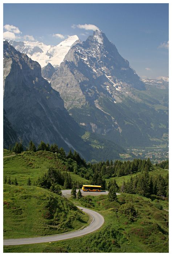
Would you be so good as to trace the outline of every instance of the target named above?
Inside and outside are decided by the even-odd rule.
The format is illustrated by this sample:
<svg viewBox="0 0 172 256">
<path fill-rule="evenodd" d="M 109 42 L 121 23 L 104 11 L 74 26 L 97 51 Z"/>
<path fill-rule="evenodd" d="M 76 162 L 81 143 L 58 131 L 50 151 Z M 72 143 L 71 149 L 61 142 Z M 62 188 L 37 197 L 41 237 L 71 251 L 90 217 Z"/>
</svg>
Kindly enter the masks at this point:
<svg viewBox="0 0 172 256">
<path fill-rule="evenodd" d="M 5 155 L 12 155 L 11 151 L 4 150 Z M 11 180 L 17 178 L 19 185 L 26 185 L 28 178 L 31 182 L 36 182 L 38 177 L 41 177 L 48 168 L 56 167 L 61 171 L 67 171 L 63 160 L 52 152 L 38 151 L 38 152 L 23 152 L 19 155 L 10 156 L 4 158 L 4 176 L 7 178 L 10 176 Z M 82 183 L 88 183 L 86 179 L 83 179 L 79 175 L 71 173 L 71 177 L 76 181 Z"/>
</svg>

